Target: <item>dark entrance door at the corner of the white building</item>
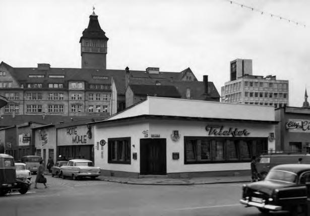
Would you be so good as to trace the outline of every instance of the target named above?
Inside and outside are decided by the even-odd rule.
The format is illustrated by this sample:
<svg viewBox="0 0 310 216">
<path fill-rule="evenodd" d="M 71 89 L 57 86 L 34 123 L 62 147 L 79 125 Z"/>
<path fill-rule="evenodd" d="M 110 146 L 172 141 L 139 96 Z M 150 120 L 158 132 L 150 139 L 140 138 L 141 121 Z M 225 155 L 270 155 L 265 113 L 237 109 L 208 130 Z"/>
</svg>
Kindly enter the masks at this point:
<svg viewBox="0 0 310 216">
<path fill-rule="evenodd" d="M 166 139 L 140 139 L 140 174 L 166 173 Z"/>
</svg>

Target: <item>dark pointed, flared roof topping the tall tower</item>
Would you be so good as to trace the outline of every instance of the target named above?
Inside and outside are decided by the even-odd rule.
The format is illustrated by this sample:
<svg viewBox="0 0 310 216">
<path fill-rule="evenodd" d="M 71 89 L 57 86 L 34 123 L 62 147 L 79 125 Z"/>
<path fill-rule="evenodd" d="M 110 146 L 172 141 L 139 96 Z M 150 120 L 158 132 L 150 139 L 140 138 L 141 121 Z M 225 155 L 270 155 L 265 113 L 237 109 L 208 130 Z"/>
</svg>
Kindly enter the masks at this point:
<svg viewBox="0 0 310 216">
<path fill-rule="evenodd" d="M 105 36 L 105 32 L 101 29 L 100 24 L 98 22 L 98 16 L 93 13 L 89 16 L 88 27 L 83 31 L 83 36 L 80 39 L 80 43 L 82 38 L 94 38 L 94 39 L 104 39 L 108 40 Z"/>
</svg>

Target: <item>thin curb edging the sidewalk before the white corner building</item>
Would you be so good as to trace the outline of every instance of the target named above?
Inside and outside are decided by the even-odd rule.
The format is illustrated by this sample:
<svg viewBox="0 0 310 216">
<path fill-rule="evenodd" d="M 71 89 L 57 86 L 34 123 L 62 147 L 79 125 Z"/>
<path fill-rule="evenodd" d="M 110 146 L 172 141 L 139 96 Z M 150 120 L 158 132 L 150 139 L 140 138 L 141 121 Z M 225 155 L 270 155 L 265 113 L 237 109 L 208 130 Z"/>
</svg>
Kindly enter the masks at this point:
<svg viewBox="0 0 310 216">
<path fill-rule="evenodd" d="M 119 183 L 119 184 L 128 184 L 128 185 L 210 185 L 210 184 L 229 184 L 229 183 L 250 182 L 250 181 L 240 180 L 240 181 L 191 182 L 191 183 L 139 183 L 139 182 L 130 182 L 130 181 L 110 180 L 110 179 L 101 179 L 101 181 L 113 182 L 113 183 Z"/>
</svg>

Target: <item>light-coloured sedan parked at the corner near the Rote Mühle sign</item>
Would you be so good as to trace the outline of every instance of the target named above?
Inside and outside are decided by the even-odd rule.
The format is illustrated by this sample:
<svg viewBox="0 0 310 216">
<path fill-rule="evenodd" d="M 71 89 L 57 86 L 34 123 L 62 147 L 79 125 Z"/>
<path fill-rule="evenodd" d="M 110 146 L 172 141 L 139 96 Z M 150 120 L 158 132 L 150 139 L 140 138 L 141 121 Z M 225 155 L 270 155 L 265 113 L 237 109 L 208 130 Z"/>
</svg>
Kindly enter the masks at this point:
<svg viewBox="0 0 310 216">
<path fill-rule="evenodd" d="M 95 179 L 100 176 L 100 167 L 94 167 L 91 160 L 72 159 L 68 161 L 67 166 L 60 167 L 60 176 L 63 179 L 71 177 L 73 180 L 78 180 L 82 177 Z"/>
</svg>

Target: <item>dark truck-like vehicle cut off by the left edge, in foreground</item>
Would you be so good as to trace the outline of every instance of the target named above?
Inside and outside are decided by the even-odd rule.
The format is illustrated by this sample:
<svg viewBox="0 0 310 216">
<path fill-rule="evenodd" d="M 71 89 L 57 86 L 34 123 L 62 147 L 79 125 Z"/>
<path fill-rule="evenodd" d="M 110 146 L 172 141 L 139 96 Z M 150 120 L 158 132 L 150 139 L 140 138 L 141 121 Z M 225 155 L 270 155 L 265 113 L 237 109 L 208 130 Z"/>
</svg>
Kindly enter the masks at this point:
<svg viewBox="0 0 310 216">
<path fill-rule="evenodd" d="M 16 179 L 14 157 L 9 154 L 0 154 L 0 195 L 5 195 L 13 190 L 21 194 L 27 193 L 30 184 Z"/>
</svg>

